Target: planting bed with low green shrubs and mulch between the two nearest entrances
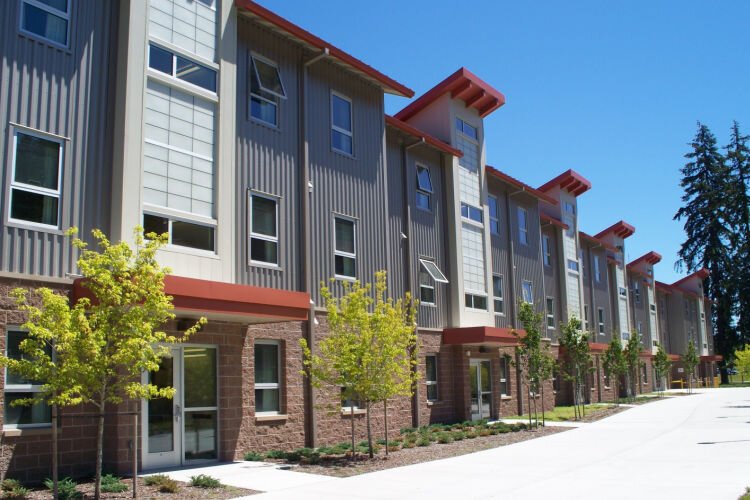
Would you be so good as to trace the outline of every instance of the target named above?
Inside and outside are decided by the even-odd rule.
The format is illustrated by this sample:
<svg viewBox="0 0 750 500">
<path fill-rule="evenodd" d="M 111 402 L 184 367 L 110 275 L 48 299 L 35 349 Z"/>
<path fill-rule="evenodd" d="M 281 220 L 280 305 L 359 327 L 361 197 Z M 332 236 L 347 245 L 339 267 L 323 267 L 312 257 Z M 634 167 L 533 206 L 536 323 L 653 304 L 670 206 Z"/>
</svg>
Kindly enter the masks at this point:
<svg viewBox="0 0 750 500">
<path fill-rule="evenodd" d="M 295 470 L 311 474 L 349 477 L 376 470 L 401 467 L 441 458 L 465 455 L 476 451 L 497 448 L 537 437 L 562 432 L 562 428 L 526 430 L 525 424 L 489 424 L 486 421 L 464 422 L 453 425 L 430 425 L 419 429 L 402 429 L 398 439 L 389 441 L 389 453 L 378 440 L 374 458 L 367 454 L 366 442 L 360 442 L 354 454 L 351 443 L 315 450 L 303 448 L 284 454 L 269 452 L 265 455 L 248 453 L 248 457 L 267 462 L 294 464 Z"/>
</svg>

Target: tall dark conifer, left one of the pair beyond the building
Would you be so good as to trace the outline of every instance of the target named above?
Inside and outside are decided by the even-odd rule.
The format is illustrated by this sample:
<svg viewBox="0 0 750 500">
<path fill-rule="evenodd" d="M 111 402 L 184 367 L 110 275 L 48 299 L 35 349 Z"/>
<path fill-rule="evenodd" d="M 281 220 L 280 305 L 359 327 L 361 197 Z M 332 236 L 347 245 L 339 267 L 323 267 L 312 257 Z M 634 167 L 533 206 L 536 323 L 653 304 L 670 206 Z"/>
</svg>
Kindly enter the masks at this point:
<svg viewBox="0 0 750 500">
<path fill-rule="evenodd" d="M 688 272 L 706 268 L 711 273 L 704 285 L 715 307 L 716 350 L 728 359 L 736 347 L 737 333 L 732 325 L 734 290 L 731 274 L 731 225 L 728 221 L 727 196 L 731 176 L 725 159 L 716 146 L 716 137 L 706 125 L 698 123 L 691 143 L 693 150 L 685 155 L 689 161 L 681 169 L 680 186 L 684 190 L 683 207 L 674 216 L 684 220 L 687 239 L 678 252 L 678 270 Z M 722 370 L 726 378 L 726 370 Z"/>
</svg>

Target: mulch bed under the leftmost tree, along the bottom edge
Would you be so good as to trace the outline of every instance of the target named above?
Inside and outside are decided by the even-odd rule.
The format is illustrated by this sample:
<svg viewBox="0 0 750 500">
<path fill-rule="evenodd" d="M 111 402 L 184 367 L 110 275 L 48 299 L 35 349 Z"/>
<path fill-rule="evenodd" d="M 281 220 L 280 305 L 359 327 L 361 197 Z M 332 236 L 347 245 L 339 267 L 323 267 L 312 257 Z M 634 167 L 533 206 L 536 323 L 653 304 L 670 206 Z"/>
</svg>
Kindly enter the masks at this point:
<svg viewBox="0 0 750 500">
<path fill-rule="evenodd" d="M 102 498 L 119 498 L 119 499 L 125 499 L 125 498 L 133 498 L 133 490 L 132 490 L 132 480 L 131 479 L 123 479 L 123 483 L 128 485 L 128 490 L 124 491 L 122 493 L 102 493 Z M 187 483 L 182 483 L 177 481 L 177 483 L 180 485 L 180 489 L 177 490 L 175 493 L 161 493 L 157 489 L 156 486 L 146 486 L 143 483 L 143 478 L 138 478 L 138 498 L 141 499 L 147 499 L 147 498 L 170 498 L 172 500 L 182 500 L 184 498 L 186 499 L 211 499 L 211 500 L 223 500 L 227 498 L 237 498 L 245 495 L 254 495 L 256 493 L 261 493 L 260 491 L 254 491 L 254 490 L 246 490 L 243 488 L 235 488 L 234 486 L 223 486 L 221 488 L 195 488 L 193 486 L 189 486 Z M 79 482 L 78 483 L 78 491 L 80 491 L 83 496 L 81 498 L 87 499 L 87 498 L 94 498 L 94 483 L 91 482 Z M 47 500 L 52 498 L 52 493 L 44 489 L 35 489 L 32 490 L 29 493 L 29 496 L 27 497 L 31 500 Z"/>
</svg>

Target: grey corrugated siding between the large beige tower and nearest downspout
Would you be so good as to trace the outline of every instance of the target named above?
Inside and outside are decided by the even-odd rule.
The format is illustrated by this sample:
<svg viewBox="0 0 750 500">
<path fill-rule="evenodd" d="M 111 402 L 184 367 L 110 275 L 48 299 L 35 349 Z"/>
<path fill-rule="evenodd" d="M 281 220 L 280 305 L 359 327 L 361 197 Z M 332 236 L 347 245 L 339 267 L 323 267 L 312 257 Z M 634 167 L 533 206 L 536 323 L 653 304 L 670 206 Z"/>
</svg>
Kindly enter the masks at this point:
<svg viewBox="0 0 750 500">
<path fill-rule="evenodd" d="M 262 287 L 301 289 L 299 184 L 302 166 L 298 90 L 301 53 L 296 45 L 242 17 L 238 21 L 237 38 L 237 280 Z M 251 51 L 279 65 L 287 98 L 279 105 L 278 129 L 250 119 Z M 320 126 L 321 120 L 322 117 L 312 119 L 311 125 Z M 278 269 L 249 265 L 249 190 L 279 197 Z M 317 196 L 320 190 L 316 186 L 313 197 Z M 317 237 L 313 229 L 313 240 Z M 313 283 L 316 288 L 317 285 Z"/>
</svg>

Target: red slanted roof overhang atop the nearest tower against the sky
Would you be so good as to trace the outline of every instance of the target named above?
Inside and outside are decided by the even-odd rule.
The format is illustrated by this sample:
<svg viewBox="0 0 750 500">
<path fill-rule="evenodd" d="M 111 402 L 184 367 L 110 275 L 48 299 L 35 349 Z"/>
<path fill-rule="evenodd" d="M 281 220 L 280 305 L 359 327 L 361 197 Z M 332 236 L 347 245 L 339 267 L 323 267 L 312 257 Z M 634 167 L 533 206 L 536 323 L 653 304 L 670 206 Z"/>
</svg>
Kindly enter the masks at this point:
<svg viewBox="0 0 750 500">
<path fill-rule="evenodd" d="M 499 90 L 482 81 L 468 69 L 460 68 L 396 113 L 396 118 L 409 121 L 411 117 L 448 92 L 451 93 L 451 99 L 461 99 L 467 108 L 476 109 L 482 118 L 505 104 L 505 96 Z"/>
</svg>

